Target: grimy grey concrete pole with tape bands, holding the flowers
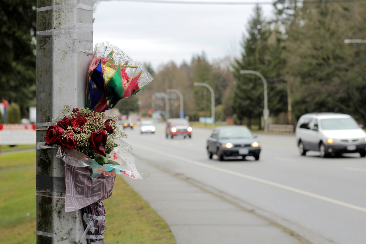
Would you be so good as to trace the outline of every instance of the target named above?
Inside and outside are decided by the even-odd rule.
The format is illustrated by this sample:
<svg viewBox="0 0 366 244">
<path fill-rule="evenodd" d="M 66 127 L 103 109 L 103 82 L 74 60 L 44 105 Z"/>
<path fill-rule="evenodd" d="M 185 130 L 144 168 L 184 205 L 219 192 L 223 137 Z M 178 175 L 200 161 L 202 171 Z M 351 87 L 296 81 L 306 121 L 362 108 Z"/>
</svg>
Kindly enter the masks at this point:
<svg viewBox="0 0 366 244">
<path fill-rule="evenodd" d="M 92 5 L 92 0 L 37 0 L 37 148 L 65 104 L 85 107 Z M 65 213 L 64 162 L 56 150 L 37 149 L 37 244 L 78 243 L 84 232 L 81 210 Z"/>
</svg>

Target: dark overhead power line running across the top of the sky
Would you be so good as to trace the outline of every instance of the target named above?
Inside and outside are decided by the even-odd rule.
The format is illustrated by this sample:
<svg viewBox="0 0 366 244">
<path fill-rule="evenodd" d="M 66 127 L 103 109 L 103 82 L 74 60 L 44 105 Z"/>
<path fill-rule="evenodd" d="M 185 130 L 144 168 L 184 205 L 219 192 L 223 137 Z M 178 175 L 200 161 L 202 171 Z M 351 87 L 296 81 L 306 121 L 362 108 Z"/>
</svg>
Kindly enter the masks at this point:
<svg viewBox="0 0 366 244">
<path fill-rule="evenodd" d="M 121 0 L 133 3 L 161 3 L 161 4 L 194 4 L 194 5 L 272 5 L 273 2 L 215 2 L 215 1 L 171 1 L 171 0 Z M 316 3 L 353 3 L 366 0 L 329 0 L 329 1 L 299 1 L 302 4 Z"/>
</svg>

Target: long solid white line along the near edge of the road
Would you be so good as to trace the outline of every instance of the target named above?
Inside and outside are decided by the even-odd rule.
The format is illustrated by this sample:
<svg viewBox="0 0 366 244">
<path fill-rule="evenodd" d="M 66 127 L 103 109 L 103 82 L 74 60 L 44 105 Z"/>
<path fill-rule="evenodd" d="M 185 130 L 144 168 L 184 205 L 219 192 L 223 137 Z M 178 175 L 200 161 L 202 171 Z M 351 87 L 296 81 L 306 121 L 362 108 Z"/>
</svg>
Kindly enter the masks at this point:
<svg viewBox="0 0 366 244">
<path fill-rule="evenodd" d="M 338 204 L 340 206 L 348 207 L 350 209 L 355 209 L 355 210 L 359 210 L 359 211 L 362 211 L 362 212 L 366 213 L 366 208 L 364 208 L 364 207 L 359 207 L 359 206 L 356 206 L 356 205 L 353 205 L 353 204 L 350 204 L 350 203 L 341 202 L 339 200 L 328 198 L 326 196 L 321 196 L 321 195 L 314 194 L 314 193 L 311 193 L 311 192 L 296 189 L 294 187 L 289 187 L 287 185 L 278 184 L 278 183 L 275 183 L 275 182 L 272 182 L 272 181 L 263 180 L 263 179 L 253 177 L 253 176 L 250 176 L 250 175 L 247 175 L 247 174 L 242 174 L 242 173 L 238 173 L 238 172 L 231 171 L 231 170 L 228 170 L 228 169 L 223 169 L 223 168 L 219 168 L 219 167 L 216 167 L 216 166 L 203 164 L 203 163 L 198 162 L 198 161 L 193 161 L 191 159 L 183 158 L 183 157 L 180 157 L 180 156 L 177 156 L 177 155 L 173 155 L 173 154 L 170 154 L 170 153 L 165 153 L 163 151 L 155 150 L 155 149 L 152 149 L 152 148 L 146 147 L 146 146 L 141 146 L 139 144 L 135 144 L 135 143 L 130 143 L 130 144 L 133 147 L 140 147 L 142 149 L 149 150 L 149 151 L 152 151 L 154 153 L 159 153 L 161 155 L 165 155 L 165 156 L 168 156 L 168 157 L 171 157 L 171 158 L 176 158 L 178 160 L 185 161 L 185 162 L 188 162 L 190 164 L 195 164 L 195 165 L 199 165 L 199 166 L 202 166 L 202 167 L 205 167 L 205 168 L 214 169 L 214 170 L 225 172 L 225 173 L 228 173 L 228 174 L 233 174 L 233 175 L 240 176 L 240 177 L 243 177 L 243 178 L 246 178 L 246 179 L 250 179 L 250 180 L 258 181 L 258 182 L 261 182 L 261 183 L 264 183 L 264 184 L 267 184 L 267 185 L 272 185 L 272 186 L 275 186 L 275 187 L 278 187 L 278 188 L 286 189 L 288 191 L 296 192 L 296 193 L 299 193 L 299 194 L 302 194 L 302 195 L 305 195 L 305 196 L 311 196 L 312 198 L 317 198 L 317 199 L 320 199 L 320 200 L 324 200 L 326 202 Z"/>
</svg>

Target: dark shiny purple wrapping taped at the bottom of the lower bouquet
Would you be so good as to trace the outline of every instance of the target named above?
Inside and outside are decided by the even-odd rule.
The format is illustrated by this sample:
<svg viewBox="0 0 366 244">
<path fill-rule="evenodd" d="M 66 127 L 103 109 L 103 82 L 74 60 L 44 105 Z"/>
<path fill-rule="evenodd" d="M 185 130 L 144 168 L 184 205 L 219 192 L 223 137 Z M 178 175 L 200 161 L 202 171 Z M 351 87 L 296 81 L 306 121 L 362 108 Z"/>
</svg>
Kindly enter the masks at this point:
<svg viewBox="0 0 366 244">
<path fill-rule="evenodd" d="M 105 216 L 105 208 L 103 205 L 102 201 L 96 202 L 96 203 L 92 203 L 89 206 L 86 206 L 82 209 L 82 214 L 84 215 L 85 213 L 87 214 L 91 214 L 91 215 L 96 215 L 96 216 Z M 92 219 L 91 221 L 93 221 L 94 223 L 94 233 L 92 233 L 90 230 L 86 233 L 87 235 L 102 235 L 104 233 L 104 225 L 105 225 L 105 219 L 104 220 L 97 220 L 97 219 Z M 84 228 L 87 227 L 87 224 L 85 223 L 85 221 L 83 221 L 84 224 Z M 97 241 L 100 241 L 100 243 L 102 243 L 102 241 L 104 241 L 104 239 L 86 239 L 87 244 L 91 244 L 91 243 L 95 243 Z"/>
</svg>

